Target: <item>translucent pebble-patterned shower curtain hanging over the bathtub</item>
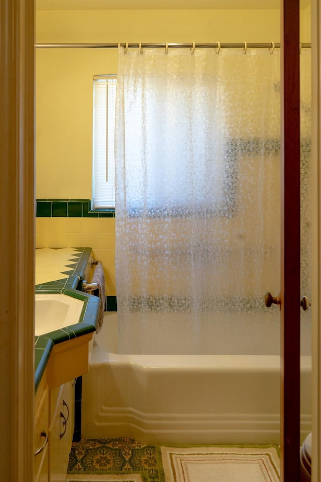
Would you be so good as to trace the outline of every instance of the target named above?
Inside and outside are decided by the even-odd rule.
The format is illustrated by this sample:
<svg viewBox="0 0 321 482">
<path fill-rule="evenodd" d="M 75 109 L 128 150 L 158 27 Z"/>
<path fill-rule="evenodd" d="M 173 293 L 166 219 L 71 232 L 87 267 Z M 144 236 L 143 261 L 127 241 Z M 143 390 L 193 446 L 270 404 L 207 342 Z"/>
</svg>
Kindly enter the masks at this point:
<svg viewBox="0 0 321 482">
<path fill-rule="evenodd" d="M 120 352 L 252 353 L 278 321 L 279 55 L 119 49 Z"/>
</svg>

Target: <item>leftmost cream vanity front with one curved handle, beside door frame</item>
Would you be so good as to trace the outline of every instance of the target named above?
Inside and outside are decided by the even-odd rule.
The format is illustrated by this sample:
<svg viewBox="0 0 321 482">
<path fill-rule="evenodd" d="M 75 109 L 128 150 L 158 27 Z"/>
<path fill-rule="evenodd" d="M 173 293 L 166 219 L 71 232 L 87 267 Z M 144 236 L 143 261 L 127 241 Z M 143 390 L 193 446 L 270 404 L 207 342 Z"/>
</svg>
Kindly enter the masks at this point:
<svg viewBox="0 0 321 482">
<path fill-rule="evenodd" d="M 35 414 L 34 435 L 34 480 L 48 482 L 48 433 L 49 433 L 49 395 L 48 386 L 44 387 Z"/>
</svg>

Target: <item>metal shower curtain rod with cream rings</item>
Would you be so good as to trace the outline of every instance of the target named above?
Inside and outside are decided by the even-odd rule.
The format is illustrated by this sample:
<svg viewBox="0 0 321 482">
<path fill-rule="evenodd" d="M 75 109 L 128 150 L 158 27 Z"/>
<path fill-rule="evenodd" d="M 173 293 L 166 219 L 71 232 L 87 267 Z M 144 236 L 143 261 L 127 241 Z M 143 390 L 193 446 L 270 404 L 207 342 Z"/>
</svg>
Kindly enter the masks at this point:
<svg viewBox="0 0 321 482">
<path fill-rule="evenodd" d="M 202 49 L 211 49 L 211 48 L 222 48 L 222 49 L 270 49 L 270 48 L 280 48 L 280 43 L 274 42 L 267 42 L 267 43 L 252 43 L 252 42 L 242 42 L 242 43 L 200 43 L 200 42 L 190 42 L 190 43 L 132 43 L 132 42 L 121 42 L 120 44 L 104 44 L 104 43 L 74 43 L 74 44 L 36 44 L 37 49 L 116 49 L 119 47 L 128 47 L 128 48 L 202 48 Z M 310 43 L 301 43 L 301 48 L 309 48 L 311 47 Z"/>
</svg>

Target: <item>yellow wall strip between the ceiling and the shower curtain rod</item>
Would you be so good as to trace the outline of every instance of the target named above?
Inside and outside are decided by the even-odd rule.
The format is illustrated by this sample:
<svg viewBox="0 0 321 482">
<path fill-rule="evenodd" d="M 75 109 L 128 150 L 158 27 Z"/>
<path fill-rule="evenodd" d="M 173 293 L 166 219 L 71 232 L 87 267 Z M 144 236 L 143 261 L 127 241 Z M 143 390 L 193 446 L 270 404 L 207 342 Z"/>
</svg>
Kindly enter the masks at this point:
<svg viewBox="0 0 321 482">
<path fill-rule="evenodd" d="M 269 42 L 278 10 L 38 12 L 37 42 Z"/>
</svg>

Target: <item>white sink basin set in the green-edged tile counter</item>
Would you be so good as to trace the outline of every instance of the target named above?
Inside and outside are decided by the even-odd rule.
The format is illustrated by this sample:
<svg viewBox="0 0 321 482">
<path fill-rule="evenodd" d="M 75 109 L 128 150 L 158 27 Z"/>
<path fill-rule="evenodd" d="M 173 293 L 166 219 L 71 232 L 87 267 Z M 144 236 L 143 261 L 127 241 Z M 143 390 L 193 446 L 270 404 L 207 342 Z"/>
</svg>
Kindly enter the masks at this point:
<svg viewBox="0 0 321 482">
<path fill-rule="evenodd" d="M 83 300 L 62 293 L 36 293 L 35 335 L 78 323 Z"/>
</svg>

